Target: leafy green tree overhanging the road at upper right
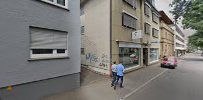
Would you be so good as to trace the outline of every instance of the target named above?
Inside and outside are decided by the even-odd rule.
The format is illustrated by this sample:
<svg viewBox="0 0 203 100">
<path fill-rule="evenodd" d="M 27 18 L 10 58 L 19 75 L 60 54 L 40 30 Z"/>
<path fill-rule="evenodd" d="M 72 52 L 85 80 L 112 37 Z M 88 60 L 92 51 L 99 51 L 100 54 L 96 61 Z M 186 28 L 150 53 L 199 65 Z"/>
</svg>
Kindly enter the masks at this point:
<svg viewBox="0 0 203 100">
<path fill-rule="evenodd" d="M 184 28 L 196 30 L 188 44 L 203 48 L 203 0 L 173 0 L 170 6 L 176 23 L 183 18 Z"/>
</svg>

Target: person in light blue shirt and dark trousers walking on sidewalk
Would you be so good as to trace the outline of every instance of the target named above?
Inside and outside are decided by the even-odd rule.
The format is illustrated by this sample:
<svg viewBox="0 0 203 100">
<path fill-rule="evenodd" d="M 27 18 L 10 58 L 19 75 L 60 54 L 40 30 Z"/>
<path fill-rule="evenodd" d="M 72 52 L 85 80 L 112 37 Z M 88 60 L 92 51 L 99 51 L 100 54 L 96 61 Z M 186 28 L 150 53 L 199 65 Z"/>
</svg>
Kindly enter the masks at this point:
<svg viewBox="0 0 203 100">
<path fill-rule="evenodd" d="M 117 80 L 114 84 L 114 89 L 116 89 L 116 85 L 120 80 L 120 88 L 123 88 L 123 76 L 124 76 L 124 66 L 120 63 L 117 65 Z"/>
</svg>

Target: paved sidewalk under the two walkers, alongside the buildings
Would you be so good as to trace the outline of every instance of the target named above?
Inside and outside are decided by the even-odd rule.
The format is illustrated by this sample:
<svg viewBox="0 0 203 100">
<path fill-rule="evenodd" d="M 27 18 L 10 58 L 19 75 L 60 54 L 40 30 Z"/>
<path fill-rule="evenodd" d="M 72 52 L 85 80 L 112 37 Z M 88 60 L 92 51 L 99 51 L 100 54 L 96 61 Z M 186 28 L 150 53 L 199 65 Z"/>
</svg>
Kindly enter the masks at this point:
<svg viewBox="0 0 203 100">
<path fill-rule="evenodd" d="M 97 76 L 93 82 L 82 85 L 81 88 L 71 92 L 63 92 L 52 96 L 44 97 L 42 100 L 120 100 L 126 94 L 132 92 L 148 80 L 152 79 L 165 69 L 159 67 L 159 64 L 148 66 L 124 76 L 124 88 L 110 87 L 111 78 Z"/>
</svg>

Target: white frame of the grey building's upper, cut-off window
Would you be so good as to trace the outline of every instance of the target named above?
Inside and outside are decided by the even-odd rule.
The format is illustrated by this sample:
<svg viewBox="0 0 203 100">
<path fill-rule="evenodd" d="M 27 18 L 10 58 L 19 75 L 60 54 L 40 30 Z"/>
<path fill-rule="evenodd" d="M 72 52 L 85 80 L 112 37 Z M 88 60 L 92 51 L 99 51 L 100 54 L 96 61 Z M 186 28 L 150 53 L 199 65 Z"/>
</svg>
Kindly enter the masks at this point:
<svg viewBox="0 0 203 100">
<path fill-rule="evenodd" d="M 50 0 L 40 0 L 40 1 L 43 1 L 43 2 L 46 2 L 46 3 L 52 4 L 52 5 L 55 5 L 55 6 L 64 8 L 64 9 L 68 9 L 68 0 L 65 0 L 65 5 L 58 4 L 58 3 L 57 3 L 57 0 L 53 0 L 53 2 L 50 1 Z"/>
</svg>

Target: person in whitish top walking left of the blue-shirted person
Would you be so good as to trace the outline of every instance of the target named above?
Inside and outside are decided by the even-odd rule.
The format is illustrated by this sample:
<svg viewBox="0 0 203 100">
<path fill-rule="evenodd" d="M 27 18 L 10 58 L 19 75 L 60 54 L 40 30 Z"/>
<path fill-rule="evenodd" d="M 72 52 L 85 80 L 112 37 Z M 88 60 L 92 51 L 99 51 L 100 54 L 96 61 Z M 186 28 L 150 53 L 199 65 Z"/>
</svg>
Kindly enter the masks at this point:
<svg viewBox="0 0 203 100">
<path fill-rule="evenodd" d="M 116 62 L 113 62 L 113 65 L 111 66 L 111 71 L 112 71 L 112 82 L 111 82 L 111 87 L 114 86 L 115 82 L 116 82 L 116 77 L 117 77 L 117 65 Z"/>
</svg>

